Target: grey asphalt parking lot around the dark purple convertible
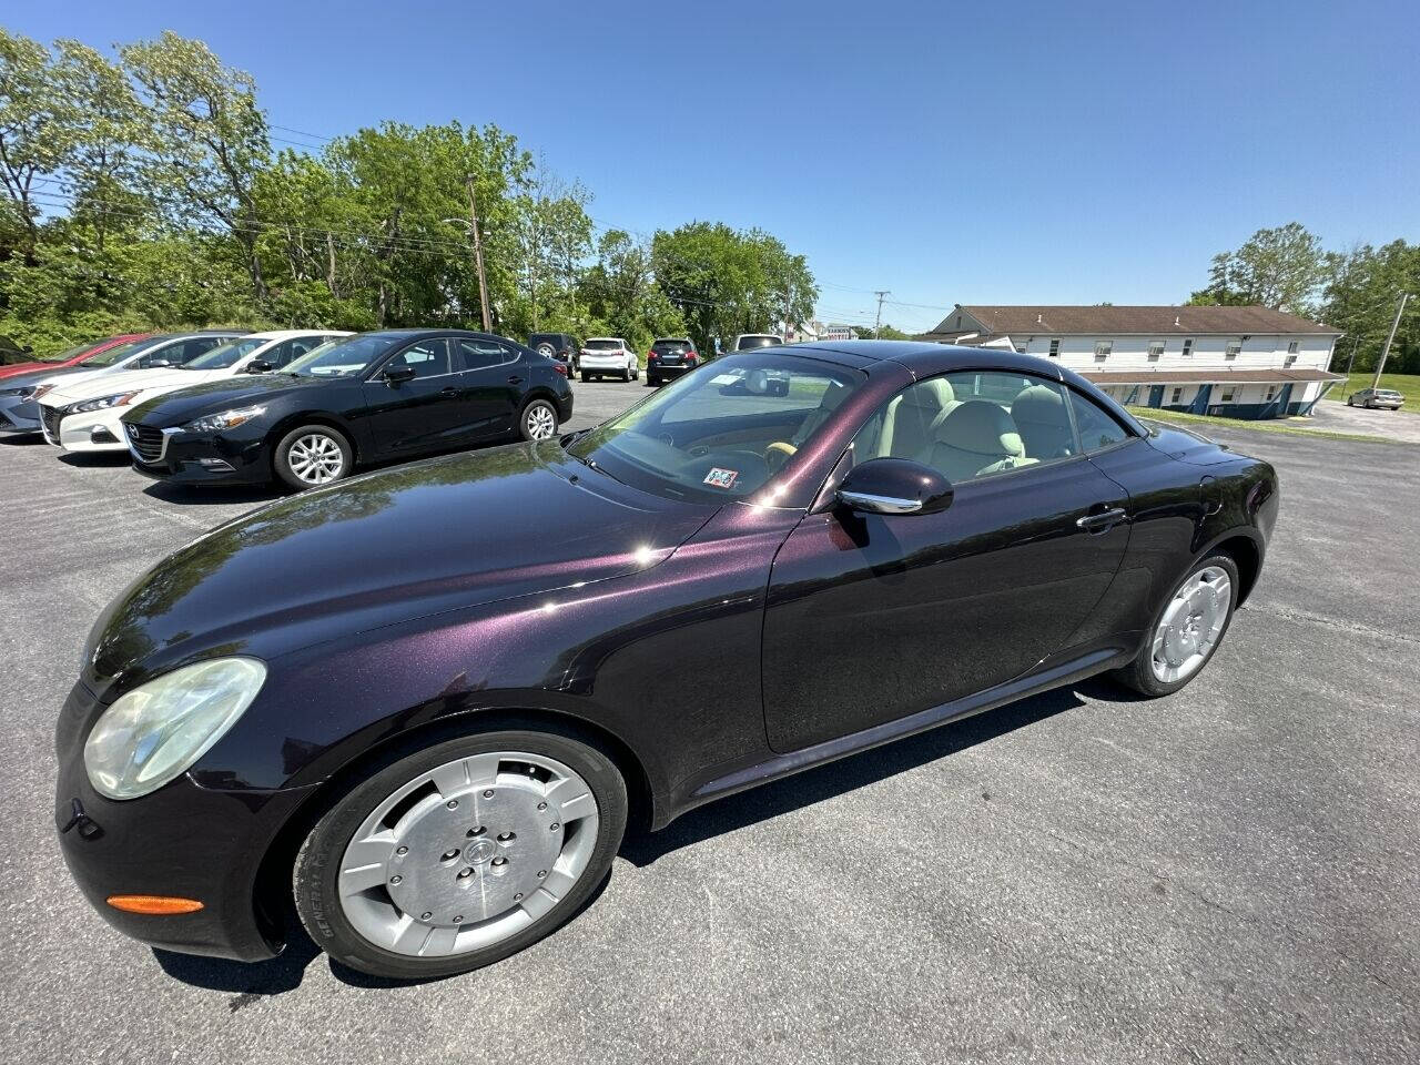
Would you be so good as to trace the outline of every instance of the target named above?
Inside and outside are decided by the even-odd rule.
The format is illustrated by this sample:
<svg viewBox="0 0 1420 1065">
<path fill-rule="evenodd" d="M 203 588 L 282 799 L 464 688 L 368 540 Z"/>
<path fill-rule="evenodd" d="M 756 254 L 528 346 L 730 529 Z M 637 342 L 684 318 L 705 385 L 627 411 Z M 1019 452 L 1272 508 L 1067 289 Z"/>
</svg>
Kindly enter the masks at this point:
<svg viewBox="0 0 1420 1065">
<path fill-rule="evenodd" d="M 577 385 L 572 427 L 645 395 Z M 119 937 L 54 841 L 51 730 L 98 611 L 263 493 L 0 437 L 0 1005 L 21 1062 L 1414 1062 L 1420 447 L 1248 433 L 1282 514 L 1210 669 L 1096 680 L 628 839 L 491 968 L 386 985 L 304 943 Z"/>
</svg>

